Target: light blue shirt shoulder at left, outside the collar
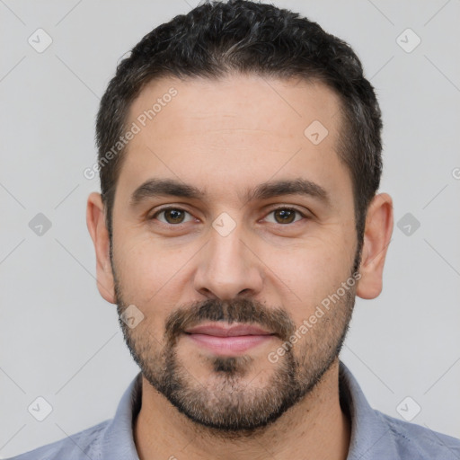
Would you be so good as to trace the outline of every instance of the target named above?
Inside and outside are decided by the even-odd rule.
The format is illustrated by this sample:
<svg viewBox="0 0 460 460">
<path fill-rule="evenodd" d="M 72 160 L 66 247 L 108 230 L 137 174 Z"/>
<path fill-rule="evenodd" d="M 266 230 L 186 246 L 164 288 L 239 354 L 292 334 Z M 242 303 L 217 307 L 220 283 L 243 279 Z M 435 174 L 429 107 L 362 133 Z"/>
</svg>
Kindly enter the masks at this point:
<svg viewBox="0 0 460 460">
<path fill-rule="evenodd" d="M 98 425 L 84 429 L 67 438 L 60 439 L 46 446 L 38 447 L 7 460 L 87 460 L 99 458 L 102 433 L 111 423 L 104 420 Z"/>
</svg>

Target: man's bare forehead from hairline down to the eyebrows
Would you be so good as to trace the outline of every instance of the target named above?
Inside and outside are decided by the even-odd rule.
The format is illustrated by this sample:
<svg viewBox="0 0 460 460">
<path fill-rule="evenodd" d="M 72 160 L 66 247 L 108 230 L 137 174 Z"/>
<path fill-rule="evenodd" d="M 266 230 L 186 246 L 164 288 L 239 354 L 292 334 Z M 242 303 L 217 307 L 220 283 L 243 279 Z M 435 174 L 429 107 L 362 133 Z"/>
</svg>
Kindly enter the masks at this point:
<svg viewBox="0 0 460 460">
<path fill-rule="evenodd" d="M 154 176 L 200 189 L 231 184 L 237 194 L 275 176 L 304 176 L 351 190 L 336 152 L 340 122 L 340 99 L 321 83 L 258 75 L 155 80 L 129 108 L 127 126 L 138 132 L 117 189 Z"/>
</svg>

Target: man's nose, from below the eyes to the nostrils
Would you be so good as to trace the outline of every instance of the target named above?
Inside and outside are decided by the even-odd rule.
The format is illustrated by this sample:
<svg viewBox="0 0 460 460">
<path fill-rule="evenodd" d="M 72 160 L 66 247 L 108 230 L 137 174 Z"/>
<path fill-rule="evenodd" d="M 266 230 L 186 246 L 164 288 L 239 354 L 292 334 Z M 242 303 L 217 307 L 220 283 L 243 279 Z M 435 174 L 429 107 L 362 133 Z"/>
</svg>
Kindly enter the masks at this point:
<svg viewBox="0 0 460 460">
<path fill-rule="evenodd" d="M 226 236 L 211 229 L 208 243 L 197 254 L 194 285 L 200 294 L 231 300 L 261 292 L 263 263 L 242 236 L 238 226 Z"/>
</svg>

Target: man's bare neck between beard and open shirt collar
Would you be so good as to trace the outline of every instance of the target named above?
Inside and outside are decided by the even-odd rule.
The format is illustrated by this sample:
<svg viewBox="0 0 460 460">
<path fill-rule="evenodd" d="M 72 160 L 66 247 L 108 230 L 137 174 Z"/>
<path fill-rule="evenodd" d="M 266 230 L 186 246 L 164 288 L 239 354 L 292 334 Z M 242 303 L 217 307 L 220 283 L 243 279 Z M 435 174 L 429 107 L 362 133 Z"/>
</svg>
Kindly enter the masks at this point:
<svg viewBox="0 0 460 460">
<path fill-rule="evenodd" d="M 341 411 L 338 359 L 299 403 L 265 429 L 241 438 L 217 436 L 191 421 L 142 378 L 142 407 L 134 427 L 140 460 L 347 458 L 350 423 Z"/>
</svg>

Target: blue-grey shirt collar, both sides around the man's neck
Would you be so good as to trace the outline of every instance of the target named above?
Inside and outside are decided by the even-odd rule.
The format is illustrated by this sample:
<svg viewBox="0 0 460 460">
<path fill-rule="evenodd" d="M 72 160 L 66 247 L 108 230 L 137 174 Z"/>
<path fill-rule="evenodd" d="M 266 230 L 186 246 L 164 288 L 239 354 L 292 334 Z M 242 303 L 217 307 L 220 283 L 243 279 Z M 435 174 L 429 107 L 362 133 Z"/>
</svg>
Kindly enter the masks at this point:
<svg viewBox="0 0 460 460">
<path fill-rule="evenodd" d="M 388 438 L 390 427 L 372 409 L 355 377 L 342 362 L 339 367 L 341 407 L 351 420 L 351 438 L 347 460 L 379 456 L 397 458 L 397 450 Z M 111 420 L 101 439 L 102 458 L 117 457 L 139 460 L 134 443 L 134 420 L 142 401 L 142 373 L 131 381 L 121 397 L 115 417 Z M 390 442 L 389 442 L 390 441 Z M 380 457 L 381 456 L 381 457 Z"/>
</svg>

